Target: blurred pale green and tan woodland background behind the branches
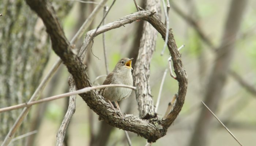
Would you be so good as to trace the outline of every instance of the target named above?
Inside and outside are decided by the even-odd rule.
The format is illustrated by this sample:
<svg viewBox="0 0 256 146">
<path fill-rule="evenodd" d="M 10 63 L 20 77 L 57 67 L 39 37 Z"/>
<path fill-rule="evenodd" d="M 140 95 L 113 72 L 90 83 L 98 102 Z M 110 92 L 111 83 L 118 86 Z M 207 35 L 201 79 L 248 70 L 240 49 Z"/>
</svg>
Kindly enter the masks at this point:
<svg viewBox="0 0 256 146">
<path fill-rule="evenodd" d="M 95 2 L 99 2 L 99 0 L 95 0 Z M 106 5 L 109 7 L 111 3 L 112 1 L 109 0 Z M 146 0 L 137 0 L 137 3 L 144 7 Z M 52 4 L 69 40 L 96 6 L 96 4 L 91 3 L 61 0 L 52 1 Z M 244 8 L 242 9 L 243 5 Z M 0 50 L 3 54 L 0 56 L 2 58 L 0 85 L 3 87 L 0 90 L 0 107 L 2 108 L 15 105 L 11 101 L 5 101 L 4 97 L 10 96 L 11 98 L 11 96 L 15 96 L 18 98 L 18 100 L 15 100 L 16 103 L 26 102 L 38 86 L 41 77 L 48 73 L 58 57 L 51 49 L 42 22 L 29 10 L 24 1 L 1 2 L 0 6 L 0 11 L 3 11 L 0 12 L 3 14 L 0 17 L 0 23 L 5 22 L 5 24 L 0 24 Z M 17 9 L 18 6 L 20 6 L 20 9 Z M 240 0 L 170 0 L 170 6 L 169 26 L 172 28 L 176 44 L 178 47 L 185 44 L 180 53 L 188 75 L 188 90 L 182 110 L 172 126 L 169 127 L 166 136 L 152 145 L 238 145 L 234 138 L 203 106 L 201 101 L 204 101 L 243 145 L 254 146 L 256 143 L 256 1 L 247 0 L 247 3 L 244 3 Z M 236 11 L 230 14 L 231 7 Z M 30 15 L 26 11 L 29 11 Z M 107 15 L 105 23 L 113 22 L 136 11 L 132 0 L 117 0 Z M 161 11 L 161 20 L 164 22 L 165 15 L 162 3 Z M 16 16 L 18 13 L 25 15 Z M 8 15 L 10 18 L 6 18 Z M 231 18 L 237 15 L 241 15 L 241 19 Z M 103 9 L 93 20 L 88 30 L 96 28 L 102 16 Z M 11 20 L 20 20 L 22 23 L 15 22 L 11 25 L 9 23 Z M 10 25 L 6 25 L 6 23 Z M 125 25 L 125 27 L 105 33 L 110 71 L 113 70 L 120 58 L 136 57 L 136 54 L 138 54 L 142 23 L 142 20 L 133 22 Z M 29 24 L 34 25 L 33 28 L 38 31 L 28 33 L 30 27 L 25 25 Z M 19 27 L 24 26 L 26 30 L 20 31 Z M 9 35 L 6 34 L 7 32 Z M 26 38 L 31 35 L 37 40 Z M 18 41 L 15 43 L 17 39 Z M 37 41 L 37 43 L 31 44 L 31 40 Z M 76 43 L 75 47 L 80 48 L 82 41 L 83 37 Z M 16 51 L 15 48 L 19 48 L 19 42 L 23 42 L 23 49 Z M 156 49 L 150 64 L 150 85 L 154 103 L 157 101 L 163 73 L 168 68 L 167 59 L 170 57 L 167 49 L 163 56 L 160 55 L 163 45 L 164 41 L 161 35 L 158 35 Z M 34 46 L 36 46 L 36 50 L 33 51 L 24 49 L 26 47 L 33 48 Z M 218 49 L 219 51 L 217 51 Z M 8 64 L 8 57 L 6 57 L 8 55 L 5 56 L 5 54 L 8 54 L 8 50 L 13 50 L 13 54 L 16 54 L 16 56 L 13 56 L 14 61 L 9 64 L 9 67 L 5 67 Z M 27 59 L 28 62 L 34 61 L 30 67 L 20 62 L 22 58 L 26 58 L 28 53 L 36 54 L 34 58 Z M 38 59 L 37 54 L 42 54 L 43 59 Z M 93 47 L 87 51 L 84 59 L 84 63 L 88 66 L 87 72 L 91 82 L 96 77 L 106 74 L 103 55 L 102 35 L 99 35 L 94 39 Z M 21 57 L 19 58 L 19 56 Z M 5 60 L 7 61 L 5 62 Z M 21 66 L 20 69 L 17 66 Z M 22 66 L 26 66 L 26 68 Z M 35 76 L 36 73 L 31 73 L 33 66 L 40 66 L 41 68 L 38 67 L 37 71 L 42 73 L 37 73 L 37 76 Z M 11 77 L 15 73 L 17 74 L 16 77 Z M 33 76 L 30 76 L 29 73 Z M 19 85 L 18 79 L 21 78 L 20 76 L 24 76 L 23 78 L 27 79 L 27 82 L 31 82 L 31 85 L 26 85 L 24 82 Z M 41 98 L 68 92 L 68 76 L 67 69 L 64 65 L 61 65 L 61 68 L 58 69 L 46 86 Z M 105 77 L 99 78 L 95 81 L 95 85 L 101 85 L 104 80 Z M 9 86 L 10 88 L 8 88 Z M 11 92 L 21 88 L 23 89 L 22 92 Z M 25 92 L 25 89 L 29 90 Z M 167 103 L 172 100 L 177 91 L 178 82 L 170 77 L 168 70 L 161 93 L 159 117 L 163 116 Z M 10 94 L 7 94 L 9 92 Z M 27 99 L 20 100 L 24 96 Z M 23 145 L 22 143 L 26 141 L 26 145 L 55 145 L 56 134 L 67 111 L 67 104 L 68 98 L 64 98 L 34 105 L 28 118 L 24 121 L 29 124 L 21 127 L 25 130 L 18 132 L 15 136 L 35 130 L 36 133 L 23 140 L 17 140 L 15 141 L 16 144 L 14 144 L 15 142 L 13 144 Z M 130 98 L 121 101 L 120 108 L 126 114 L 139 115 L 134 92 L 132 92 Z M 3 141 L 8 128 L 13 124 L 13 122 L 10 122 L 11 119 L 16 119 L 20 111 L 0 113 L 1 125 L 5 123 L 8 125 L 0 126 L 0 141 Z M 11 118 L 7 118 L 8 115 L 11 115 Z M 128 134 L 134 146 L 146 145 L 146 139 L 138 137 L 137 134 L 132 132 L 128 132 Z M 64 143 L 69 146 L 128 145 L 124 131 L 99 121 L 98 116 L 90 110 L 79 96 L 76 99 L 76 111 L 66 135 Z"/>
</svg>

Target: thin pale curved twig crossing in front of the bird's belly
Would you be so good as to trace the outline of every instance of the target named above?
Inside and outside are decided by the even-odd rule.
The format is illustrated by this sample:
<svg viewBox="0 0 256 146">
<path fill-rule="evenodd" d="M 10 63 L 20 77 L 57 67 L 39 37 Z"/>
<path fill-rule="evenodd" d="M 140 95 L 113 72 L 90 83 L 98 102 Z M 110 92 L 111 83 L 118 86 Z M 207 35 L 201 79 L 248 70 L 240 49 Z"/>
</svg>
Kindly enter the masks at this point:
<svg viewBox="0 0 256 146">
<path fill-rule="evenodd" d="M 102 89 L 102 88 L 107 88 L 107 87 L 108 88 L 109 87 L 124 87 L 124 88 L 130 88 L 130 89 L 133 89 L 133 90 L 136 89 L 136 87 L 128 86 L 128 85 L 121 85 L 121 84 L 120 85 L 110 84 L 110 85 L 99 85 L 99 86 L 94 86 L 94 87 L 86 87 L 86 88 L 83 88 L 83 89 L 80 89 L 80 90 L 76 90 L 74 92 L 63 93 L 63 94 L 60 94 L 60 95 L 47 97 L 47 98 L 40 99 L 40 100 L 37 100 L 37 101 L 31 101 L 29 103 L 21 103 L 21 104 L 13 105 L 13 106 L 10 106 L 10 107 L 0 108 L 0 113 L 1 112 L 6 112 L 6 111 L 11 111 L 11 110 L 16 110 L 16 109 L 23 108 L 23 107 L 29 107 L 29 106 L 34 105 L 34 104 L 39 104 L 39 103 L 48 102 L 48 101 L 52 101 L 52 100 L 56 100 L 56 99 L 61 99 L 61 98 L 68 97 L 68 96 L 71 96 L 71 95 L 86 93 L 86 92 L 89 92 L 91 90 Z"/>
</svg>

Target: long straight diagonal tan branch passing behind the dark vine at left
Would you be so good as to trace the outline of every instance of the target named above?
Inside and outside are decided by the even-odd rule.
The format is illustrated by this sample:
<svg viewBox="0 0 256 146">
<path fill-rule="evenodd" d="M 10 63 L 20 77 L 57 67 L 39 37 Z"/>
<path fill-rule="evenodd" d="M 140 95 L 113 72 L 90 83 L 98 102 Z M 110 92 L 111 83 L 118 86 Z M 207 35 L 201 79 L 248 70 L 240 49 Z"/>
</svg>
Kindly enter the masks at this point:
<svg viewBox="0 0 256 146">
<path fill-rule="evenodd" d="M 99 12 L 99 8 L 101 8 L 100 6 L 105 5 L 107 0 L 102 0 L 101 3 L 99 5 L 97 5 L 97 7 L 94 9 L 94 11 L 89 15 L 89 17 L 86 19 L 86 21 L 83 23 L 83 25 L 80 27 L 80 29 L 78 30 L 78 32 L 76 33 L 76 35 L 72 38 L 70 44 L 74 44 L 83 34 L 84 30 L 86 30 L 89 25 L 92 22 L 92 19 L 96 16 L 96 14 Z M 31 96 L 29 102 L 36 100 L 37 97 L 39 97 L 39 95 L 41 95 L 42 91 L 44 90 L 46 84 L 48 83 L 48 81 L 52 78 L 53 74 L 56 72 L 56 70 L 59 68 L 60 64 L 61 64 L 61 59 L 59 58 L 54 65 L 52 66 L 52 68 L 50 69 L 50 71 L 47 73 L 47 75 L 43 78 L 43 80 L 41 81 L 41 83 L 39 84 L 39 86 L 37 87 L 37 89 L 35 90 L 35 92 L 33 93 L 33 95 Z M 28 103 L 29 103 L 28 102 Z M 2 146 L 7 146 L 13 135 L 15 134 L 16 130 L 19 128 L 20 124 L 22 123 L 23 119 L 26 117 L 27 113 L 29 112 L 30 107 L 25 107 L 23 109 L 23 111 L 20 113 L 20 115 L 18 116 L 18 118 L 16 119 L 14 125 L 12 126 L 12 128 L 10 129 L 10 131 L 8 132 L 8 134 L 6 135 L 4 142 L 2 143 Z"/>
</svg>

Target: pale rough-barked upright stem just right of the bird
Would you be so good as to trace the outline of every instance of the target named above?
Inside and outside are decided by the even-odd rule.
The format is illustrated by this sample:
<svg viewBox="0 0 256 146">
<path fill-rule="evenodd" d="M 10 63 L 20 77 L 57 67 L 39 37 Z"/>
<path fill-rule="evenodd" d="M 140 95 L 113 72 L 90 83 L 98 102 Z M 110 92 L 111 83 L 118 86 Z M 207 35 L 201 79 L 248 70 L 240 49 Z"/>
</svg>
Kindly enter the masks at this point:
<svg viewBox="0 0 256 146">
<path fill-rule="evenodd" d="M 154 9 L 158 17 L 161 14 L 159 0 L 147 0 L 146 9 Z M 140 39 L 140 48 L 137 61 L 133 72 L 134 84 L 137 87 L 136 100 L 138 101 L 138 110 L 140 118 L 150 119 L 156 116 L 155 107 L 150 89 L 150 61 L 155 50 L 157 41 L 157 30 L 150 23 L 143 23 L 142 38 Z"/>
</svg>

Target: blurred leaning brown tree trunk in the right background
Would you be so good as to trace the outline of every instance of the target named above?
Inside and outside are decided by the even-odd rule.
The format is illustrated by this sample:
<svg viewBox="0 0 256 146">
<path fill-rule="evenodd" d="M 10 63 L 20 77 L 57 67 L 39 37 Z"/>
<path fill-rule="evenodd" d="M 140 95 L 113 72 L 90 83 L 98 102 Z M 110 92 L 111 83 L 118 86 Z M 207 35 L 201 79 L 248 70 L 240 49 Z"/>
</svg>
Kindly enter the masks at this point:
<svg viewBox="0 0 256 146">
<path fill-rule="evenodd" d="M 215 64 L 212 68 L 209 83 L 207 86 L 204 103 L 215 112 L 221 99 L 221 93 L 225 85 L 225 79 L 234 52 L 234 42 L 241 24 L 242 16 L 246 6 L 246 0 L 232 0 L 229 14 L 224 28 L 222 41 L 215 57 Z M 191 146 L 206 146 L 207 135 L 210 132 L 212 115 L 205 108 L 199 114 L 195 130 L 193 131 Z"/>
</svg>

